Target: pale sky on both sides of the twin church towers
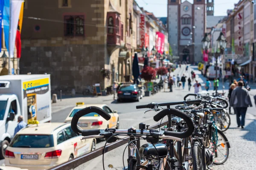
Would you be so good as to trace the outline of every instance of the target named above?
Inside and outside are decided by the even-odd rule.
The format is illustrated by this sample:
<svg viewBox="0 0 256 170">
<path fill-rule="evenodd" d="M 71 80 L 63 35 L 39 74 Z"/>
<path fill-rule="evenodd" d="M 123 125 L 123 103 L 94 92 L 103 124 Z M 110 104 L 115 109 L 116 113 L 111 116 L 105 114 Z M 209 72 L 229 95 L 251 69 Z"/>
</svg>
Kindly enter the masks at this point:
<svg viewBox="0 0 256 170">
<path fill-rule="evenodd" d="M 183 3 L 185 0 L 181 0 Z M 193 0 L 188 0 L 193 3 Z M 213 0 L 212 0 L 213 1 Z M 167 0 L 136 0 L 140 7 L 148 12 L 153 12 L 156 17 L 167 17 Z M 239 0 L 214 0 L 214 15 L 225 16 L 227 9 L 233 9 Z"/>
</svg>

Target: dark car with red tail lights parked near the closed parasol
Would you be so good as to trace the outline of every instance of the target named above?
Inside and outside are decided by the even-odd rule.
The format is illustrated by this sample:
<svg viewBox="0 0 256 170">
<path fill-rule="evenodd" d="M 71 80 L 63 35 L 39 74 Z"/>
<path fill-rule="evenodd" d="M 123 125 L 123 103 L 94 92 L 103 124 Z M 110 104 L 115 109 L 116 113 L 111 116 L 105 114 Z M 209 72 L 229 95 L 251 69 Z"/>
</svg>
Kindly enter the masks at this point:
<svg viewBox="0 0 256 170">
<path fill-rule="evenodd" d="M 135 100 L 137 102 L 141 99 L 142 92 L 136 84 L 123 84 L 117 92 L 117 101 L 121 102 L 124 99 Z"/>
</svg>

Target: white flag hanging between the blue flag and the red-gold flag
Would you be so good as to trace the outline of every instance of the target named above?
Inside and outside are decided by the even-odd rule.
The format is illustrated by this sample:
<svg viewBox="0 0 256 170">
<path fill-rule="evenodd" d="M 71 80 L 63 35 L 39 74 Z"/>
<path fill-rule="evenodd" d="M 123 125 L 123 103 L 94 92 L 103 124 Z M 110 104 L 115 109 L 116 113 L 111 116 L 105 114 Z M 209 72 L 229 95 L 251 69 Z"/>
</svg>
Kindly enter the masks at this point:
<svg viewBox="0 0 256 170">
<path fill-rule="evenodd" d="M 16 39 L 16 34 L 17 34 L 17 26 L 18 26 L 18 21 L 20 17 L 20 8 L 21 4 L 23 3 L 23 0 L 12 0 L 11 4 L 11 28 L 10 28 L 10 47 L 9 47 L 9 52 L 11 58 L 14 56 L 14 47 L 15 47 L 15 39 Z"/>
</svg>

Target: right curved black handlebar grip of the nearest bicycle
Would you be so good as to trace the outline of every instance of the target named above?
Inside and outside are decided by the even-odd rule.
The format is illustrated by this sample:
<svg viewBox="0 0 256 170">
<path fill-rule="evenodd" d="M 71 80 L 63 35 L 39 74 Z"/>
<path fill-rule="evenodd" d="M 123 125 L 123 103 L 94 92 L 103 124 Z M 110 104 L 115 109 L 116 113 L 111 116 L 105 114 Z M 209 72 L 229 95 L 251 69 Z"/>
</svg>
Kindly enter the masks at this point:
<svg viewBox="0 0 256 170">
<path fill-rule="evenodd" d="M 164 135 L 174 136 L 177 138 L 186 138 L 186 137 L 189 137 L 190 135 L 192 135 L 195 127 L 192 122 L 192 119 L 186 113 L 183 113 L 177 109 L 169 108 L 169 109 L 165 109 L 165 110 L 157 113 L 157 115 L 154 116 L 154 121 L 158 122 L 160 119 L 162 119 L 166 115 L 174 115 L 174 116 L 178 116 L 178 117 L 182 118 L 186 122 L 188 129 L 184 132 L 165 131 Z"/>
</svg>

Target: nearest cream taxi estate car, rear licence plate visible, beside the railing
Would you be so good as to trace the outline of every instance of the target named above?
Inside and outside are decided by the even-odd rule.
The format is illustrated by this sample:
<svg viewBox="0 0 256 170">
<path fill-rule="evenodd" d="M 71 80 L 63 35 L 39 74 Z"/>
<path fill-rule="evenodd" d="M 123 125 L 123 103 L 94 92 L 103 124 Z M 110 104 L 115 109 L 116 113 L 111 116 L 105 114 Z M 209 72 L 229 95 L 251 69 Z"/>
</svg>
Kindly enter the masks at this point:
<svg viewBox="0 0 256 170">
<path fill-rule="evenodd" d="M 5 165 L 45 170 L 95 150 L 96 139 L 81 140 L 70 125 L 42 123 L 23 128 L 6 148 Z"/>
</svg>

